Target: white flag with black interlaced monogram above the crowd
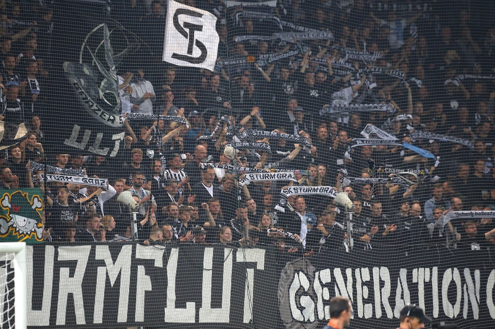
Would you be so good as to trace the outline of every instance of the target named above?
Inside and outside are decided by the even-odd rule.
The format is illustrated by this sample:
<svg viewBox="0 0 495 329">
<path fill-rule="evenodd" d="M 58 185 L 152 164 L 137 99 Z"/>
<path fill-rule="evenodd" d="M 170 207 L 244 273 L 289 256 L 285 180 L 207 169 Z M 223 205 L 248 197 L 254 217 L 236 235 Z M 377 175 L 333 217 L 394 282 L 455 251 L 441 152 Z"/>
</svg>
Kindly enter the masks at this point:
<svg viewBox="0 0 495 329">
<path fill-rule="evenodd" d="M 213 71 L 220 41 L 216 24 L 215 15 L 168 0 L 163 61 Z"/>
</svg>

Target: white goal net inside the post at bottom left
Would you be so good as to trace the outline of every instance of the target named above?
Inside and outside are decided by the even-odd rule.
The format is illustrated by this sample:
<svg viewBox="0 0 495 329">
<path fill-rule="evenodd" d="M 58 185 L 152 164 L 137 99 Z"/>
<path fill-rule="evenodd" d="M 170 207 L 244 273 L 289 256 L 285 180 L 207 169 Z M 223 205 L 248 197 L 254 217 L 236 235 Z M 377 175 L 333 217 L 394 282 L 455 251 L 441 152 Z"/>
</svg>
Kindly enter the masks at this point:
<svg viewBox="0 0 495 329">
<path fill-rule="evenodd" d="M 13 253 L 0 253 L 0 327 L 15 328 Z"/>
</svg>

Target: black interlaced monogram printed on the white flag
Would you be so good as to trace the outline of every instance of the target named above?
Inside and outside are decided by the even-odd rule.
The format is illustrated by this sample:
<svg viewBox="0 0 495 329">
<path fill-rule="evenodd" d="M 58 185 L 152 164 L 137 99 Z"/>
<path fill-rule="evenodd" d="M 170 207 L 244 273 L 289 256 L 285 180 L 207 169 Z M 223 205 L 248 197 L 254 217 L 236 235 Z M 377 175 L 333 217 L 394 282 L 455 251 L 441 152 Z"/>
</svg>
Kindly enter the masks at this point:
<svg viewBox="0 0 495 329">
<path fill-rule="evenodd" d="M 192 57 L 192 56 L 173 53 L 171 57 L 191 64 L 200 64 L 204 62 L 204 60 L 206 59 L 206 56 L 208 55 L 208 51 L 206 50 L 206 47 L 202 42 L 200 42 L 198 39 L 194 39 L 194 32 L 202 31 L 203 25 L 184 22 L 184 27 L 182 27 L 181 24 L 179 23 L 179 15 L 188 15 L 192 17 L 201 18 L 203 17 L 203 14 L 182 8 L 176 10 L 175 13 L 173 14 L 173 26 L 177 31 L 179 31 L 179 33 L 181 33 L 188 40 L 187 54 L 192 55 L 193 47 L 194 45 L 196 45 L 196 47 L 198 47 L 199 50 L 201 51 L 201 55 L 199 57 Z M 189 33 L 184 28 L 187 28 L 189 30 Z"/>
</svg>

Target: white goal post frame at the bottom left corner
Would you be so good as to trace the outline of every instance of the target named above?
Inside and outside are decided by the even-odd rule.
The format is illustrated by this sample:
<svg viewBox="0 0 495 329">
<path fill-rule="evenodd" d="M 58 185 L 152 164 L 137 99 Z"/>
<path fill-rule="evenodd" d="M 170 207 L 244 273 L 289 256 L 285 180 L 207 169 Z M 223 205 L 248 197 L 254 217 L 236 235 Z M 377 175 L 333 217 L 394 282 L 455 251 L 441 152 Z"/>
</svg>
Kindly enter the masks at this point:
<svg viewBox="0 0 495 329">
<path fill-rule="evenodd" d="M 13 254 L 13 258 L 9 257 Z M 0 242 L 0 261 L 5 268 L 2 268 L 0 273 L 0 313 L 4 312 L 4 303 L 7 298 L 7 273 L 10 270 L 14 271 L 14 308 L 15 308 L 15 328 L 27 328 L 27 313 L 26 313 L 26 243 L 25 242 Z M 10 261 L 10 264 L 9 264 Z M 5 279 L 3 279 L 5 278 Z M 5 316 L 2 316 L 5 321 Z M 4 322 L 0 323 L 2 328 Z M 10 329 L 10 328 L 9 328 Z"/>
</svg>

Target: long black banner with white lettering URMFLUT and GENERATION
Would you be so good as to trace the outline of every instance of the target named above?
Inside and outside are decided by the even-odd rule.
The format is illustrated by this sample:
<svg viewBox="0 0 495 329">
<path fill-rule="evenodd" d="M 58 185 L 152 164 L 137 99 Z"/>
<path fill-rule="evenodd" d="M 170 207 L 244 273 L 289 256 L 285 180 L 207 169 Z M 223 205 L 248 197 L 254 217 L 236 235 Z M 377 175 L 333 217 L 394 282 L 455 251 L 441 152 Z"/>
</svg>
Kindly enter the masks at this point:
<svg viewBox="0 0 495 329">
<path fill-rule="evenodd" d="M 489 251 L 423 246 L 408 254 L 356 248 L 300 259 L 272 246 L 34 245 L 27 251 L 28 325 L 321 328 L 328 321 L 328 301 L 348 294 L 355 310 L 351 328 L 396 328 L 404 302 L 424 303 L 434 322 L 493 326 L 495 266 Z M 173 273 L 175 280 L 169 282 Z M 167 305 L 173 291 L 175 304 Z M 202 303 L 209 294 L 208 308 Z M 173 318 L 187 303 L 194 303 L 192 311 Z M 223 315 L 215 313 L 222 307 L 226 311 L 218 314 Z"/>
</svg>

